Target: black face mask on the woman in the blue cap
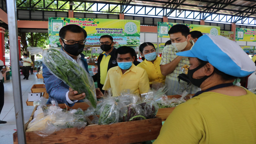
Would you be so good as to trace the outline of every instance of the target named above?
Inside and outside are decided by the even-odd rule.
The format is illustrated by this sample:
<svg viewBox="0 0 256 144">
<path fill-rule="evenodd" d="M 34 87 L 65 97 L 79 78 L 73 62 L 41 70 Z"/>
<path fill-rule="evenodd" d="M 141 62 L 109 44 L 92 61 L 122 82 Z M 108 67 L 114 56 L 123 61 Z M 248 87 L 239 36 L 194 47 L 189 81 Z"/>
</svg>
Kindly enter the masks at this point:
<svg viewBox="0 0 256 144">
<path fill-rule="evenodd" d="M 205 63 L 203 63 L 203 64 L 199 65 L 198 67 L 196 67 L 196 68 L 194 68 L 194 69 L 191 69 L 191 70 L 190 70 L 190 68 L 188 68 L 188 78 L 189 78 L 190 82 L 191 82 L 192 84 L 194 84 L 195 86 L 197 86 L 197 87 L 200 87 L 200 85 L 201 85 L 208 77 L 212 76 L 212 74 L 211 74 L 210 76 L 204 76 L 203 78 L 200 78 L 200 79 L 194 79 L 194 78 L 192 78 L 194 72 L 197 71 L 198 69 L 202 68 L 206 63 L 208 63 L 208 62 L 205 62 Z"/>
</svg>

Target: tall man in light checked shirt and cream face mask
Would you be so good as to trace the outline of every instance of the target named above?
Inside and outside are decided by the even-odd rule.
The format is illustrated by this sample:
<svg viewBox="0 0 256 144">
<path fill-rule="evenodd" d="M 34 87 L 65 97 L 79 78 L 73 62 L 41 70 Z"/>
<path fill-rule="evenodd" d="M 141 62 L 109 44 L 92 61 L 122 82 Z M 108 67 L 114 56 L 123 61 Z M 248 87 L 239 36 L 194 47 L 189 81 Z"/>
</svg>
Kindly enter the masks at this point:
<svg viewBox="0 0 256 144">
<path fill-rule="evenodd" d="M 168 32 L 172 44 L 167 45 L 163 49 L 162 60 L 160 63 L 160 69 L 162 75 L 166 76 L 165 84 L 168 88 L 167 95 L 179 94 L 184 90 L 187 83 L 178 80 L 178 76 L 182 73 L 180 67 L 183 65 L 189 65 L 187 57 L 177 56 L 177 52 L 188 51 L 193 46 L 193 42 L 190 40 L 191 35 L 189 28 L 183 24 L 177 24 L 172 26 Z M 189 93 L 196 93 L 198 87 L 192 85 L 188 88 Z"/>
</svg>

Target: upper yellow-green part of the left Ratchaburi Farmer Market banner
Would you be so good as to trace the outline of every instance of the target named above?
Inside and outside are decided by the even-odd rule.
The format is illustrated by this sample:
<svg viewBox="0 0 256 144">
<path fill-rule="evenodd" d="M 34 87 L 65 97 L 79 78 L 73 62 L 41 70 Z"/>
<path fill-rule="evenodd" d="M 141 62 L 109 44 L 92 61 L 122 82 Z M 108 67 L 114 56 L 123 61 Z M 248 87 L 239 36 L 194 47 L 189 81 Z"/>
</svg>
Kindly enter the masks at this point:
<svg viewBox="0 0 256 144">
<path fill-rule="evenodd" d="M 140 20 L 52 18 L 49 17 L 49 36 L 58 36 L 60 28 L 76 24 L 84 28 L 88 36 L 140 36 Z"/>
</svg>

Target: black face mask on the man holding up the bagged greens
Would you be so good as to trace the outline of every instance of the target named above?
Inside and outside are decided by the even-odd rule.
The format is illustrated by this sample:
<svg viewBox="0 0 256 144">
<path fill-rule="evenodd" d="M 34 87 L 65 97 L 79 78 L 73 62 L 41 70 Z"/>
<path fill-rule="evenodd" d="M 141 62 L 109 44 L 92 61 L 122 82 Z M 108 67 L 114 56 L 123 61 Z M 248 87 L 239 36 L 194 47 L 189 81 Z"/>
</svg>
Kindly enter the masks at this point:
<svg viewBox="0 0 256 144">
<path fill-rule="evenodd" d="M 79 54 L 81 54 L 84 50 L 84 44 L 65 44 L 64 43 L 64 47 L 62 47 L 66 52 L 68 52 L 71 55 L 74 56 L 78 56 Z"/>
</svg>

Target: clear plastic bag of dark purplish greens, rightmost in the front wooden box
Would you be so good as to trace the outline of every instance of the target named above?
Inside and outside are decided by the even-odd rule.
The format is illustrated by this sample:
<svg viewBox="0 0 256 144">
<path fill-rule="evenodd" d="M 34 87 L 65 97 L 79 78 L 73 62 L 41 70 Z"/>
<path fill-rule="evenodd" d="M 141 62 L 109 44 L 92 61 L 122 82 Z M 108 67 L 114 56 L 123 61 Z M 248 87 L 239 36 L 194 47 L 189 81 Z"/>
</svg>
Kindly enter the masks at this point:
<svg viewBox="0 0 256 144">
<path fill-rule="evenodd" d="M 139 105 L 143 109 L 142 113 L 147 119 L 156 117 L 159 107 L 155 101 L 150 100 L 148 102 L 144 102 Z"/>
</svg>

